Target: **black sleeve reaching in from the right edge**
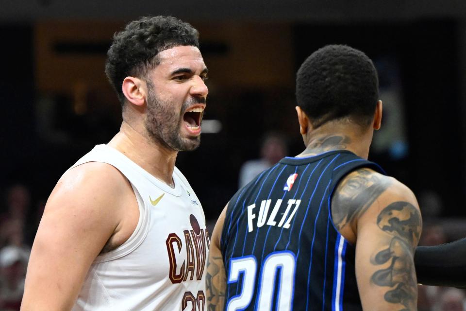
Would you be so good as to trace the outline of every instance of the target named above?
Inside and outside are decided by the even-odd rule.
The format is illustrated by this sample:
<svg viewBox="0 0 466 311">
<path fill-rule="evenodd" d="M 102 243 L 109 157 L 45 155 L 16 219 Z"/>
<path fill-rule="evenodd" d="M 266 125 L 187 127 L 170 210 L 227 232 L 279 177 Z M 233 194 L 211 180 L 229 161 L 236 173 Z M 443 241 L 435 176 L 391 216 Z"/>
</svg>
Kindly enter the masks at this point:
<svg viewBox="0 0 466 311">
<path fill-rule="evenodd" d="M 420 284 L 466 288 L 466 238 L 416 247 L 414 263 Z"/>
</svg>

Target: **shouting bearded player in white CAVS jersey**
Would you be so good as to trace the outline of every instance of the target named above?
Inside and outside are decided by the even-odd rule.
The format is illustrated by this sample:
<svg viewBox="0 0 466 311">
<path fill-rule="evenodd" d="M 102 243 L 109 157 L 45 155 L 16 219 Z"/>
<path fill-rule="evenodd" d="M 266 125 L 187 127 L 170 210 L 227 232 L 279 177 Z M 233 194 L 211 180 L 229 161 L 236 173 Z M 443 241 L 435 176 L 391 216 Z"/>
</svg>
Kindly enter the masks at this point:
<svg viewBox="0 0 466 311">
<path fill-rule="evenodd" d="M 120 131 L 52 191 L 22 311 L 204 310 L 204 213 L 175 167 L 179 151 L 200 144 L 208 89 L 198 37 L 161 16 L 114 36 L 105 71 L 122 104 Z"/>
</svg>

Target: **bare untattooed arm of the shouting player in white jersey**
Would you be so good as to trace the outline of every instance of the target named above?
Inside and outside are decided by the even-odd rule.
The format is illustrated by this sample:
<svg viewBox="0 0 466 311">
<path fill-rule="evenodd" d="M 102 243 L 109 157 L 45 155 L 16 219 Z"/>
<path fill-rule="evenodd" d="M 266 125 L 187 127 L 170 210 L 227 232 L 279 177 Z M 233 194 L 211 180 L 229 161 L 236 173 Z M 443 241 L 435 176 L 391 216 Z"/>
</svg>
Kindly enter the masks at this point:
<svg viewBox="0 0 466 311">
<path fill-rule="evenodd" d="M 60 179 L 33 243 L 22 311 L 71 310 L 93 260 L 119 232 L 119 207 L 131 204 L 127 183 L 115 168 L 94 162 Z"/>
</svg>

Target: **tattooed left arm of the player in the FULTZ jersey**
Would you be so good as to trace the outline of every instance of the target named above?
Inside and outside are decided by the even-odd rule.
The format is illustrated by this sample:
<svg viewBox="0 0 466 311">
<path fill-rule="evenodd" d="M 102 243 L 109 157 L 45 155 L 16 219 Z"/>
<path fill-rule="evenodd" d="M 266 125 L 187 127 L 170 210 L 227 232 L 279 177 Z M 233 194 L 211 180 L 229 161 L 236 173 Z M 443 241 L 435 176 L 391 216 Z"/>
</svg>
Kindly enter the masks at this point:
<svg viewBox="0 0 466 311">
<path fill-rule="evenodd" d="M 212 233 L 207 259 L 207 275 L 205 285 L 207 289 L 207 310 L 222 311 L 225 305 L 225 290 L 227 288 L 225 265 L 220 251 L 220 238 L 222 235 L 223 223 L 227 206 L 223 209 Z"/>
</svg>

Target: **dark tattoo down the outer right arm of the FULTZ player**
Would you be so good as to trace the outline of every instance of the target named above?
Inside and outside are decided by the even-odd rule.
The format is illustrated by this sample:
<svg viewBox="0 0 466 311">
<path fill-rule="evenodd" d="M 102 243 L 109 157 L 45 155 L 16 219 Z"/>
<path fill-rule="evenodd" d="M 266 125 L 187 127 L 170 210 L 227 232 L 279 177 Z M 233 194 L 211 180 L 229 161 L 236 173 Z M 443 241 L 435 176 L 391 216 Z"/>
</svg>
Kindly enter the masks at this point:
<svg viewBox="0 0 466 311">
<path fill-rule="evenodd" d="M 401 304 L 405 311 L 416 310 L 417 285 L 413 259 L 422 229 L 419 211 L 408 202 L 395 202 L 381 211 L 377 225 L 391 236 L 391 241 L 387 248 L 375 255 L 371 263 L 389 263 L 389 266 L 376 271 L 371 280 L 375 285 L 393 288 L 385 293 L 385 301 Z"/>
</svg>

